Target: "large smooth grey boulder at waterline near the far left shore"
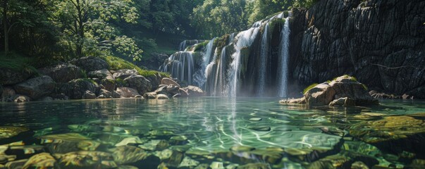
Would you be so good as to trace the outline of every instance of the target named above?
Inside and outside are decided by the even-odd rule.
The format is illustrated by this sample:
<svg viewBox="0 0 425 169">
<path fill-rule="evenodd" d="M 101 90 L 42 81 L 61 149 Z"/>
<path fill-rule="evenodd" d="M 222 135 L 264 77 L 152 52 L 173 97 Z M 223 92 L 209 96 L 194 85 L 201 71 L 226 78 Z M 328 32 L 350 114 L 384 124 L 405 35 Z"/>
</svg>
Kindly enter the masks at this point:
<svg viewBox="0 0 425 169">
<path fill-rule="evenodd" d="M 39 99 L 54 91 L 55 82 L 51 77 L 45 75 L 16 84 L 13 88 L 18 94 L 30 96 L 32 99 Z"/>
</svg>

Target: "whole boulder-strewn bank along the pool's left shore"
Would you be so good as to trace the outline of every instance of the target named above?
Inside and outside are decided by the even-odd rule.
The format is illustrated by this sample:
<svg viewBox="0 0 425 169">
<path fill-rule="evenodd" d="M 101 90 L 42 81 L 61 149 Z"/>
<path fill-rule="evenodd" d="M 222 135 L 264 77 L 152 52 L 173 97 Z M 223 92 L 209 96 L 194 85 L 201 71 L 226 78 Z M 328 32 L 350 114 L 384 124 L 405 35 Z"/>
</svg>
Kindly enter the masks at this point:
<svg viewBox="0 0 425 169">
<path fill-rule="evenodd" d="M 99 57 L 84 57 L 39 69 L 39 75 L 2 69 L 1 101 L 53 101 L 68 99 L 118 99 L 204 96 L 199 87 L 154 73 L 144 77 L 137 70 L 109 70 Z"/>
</svg>

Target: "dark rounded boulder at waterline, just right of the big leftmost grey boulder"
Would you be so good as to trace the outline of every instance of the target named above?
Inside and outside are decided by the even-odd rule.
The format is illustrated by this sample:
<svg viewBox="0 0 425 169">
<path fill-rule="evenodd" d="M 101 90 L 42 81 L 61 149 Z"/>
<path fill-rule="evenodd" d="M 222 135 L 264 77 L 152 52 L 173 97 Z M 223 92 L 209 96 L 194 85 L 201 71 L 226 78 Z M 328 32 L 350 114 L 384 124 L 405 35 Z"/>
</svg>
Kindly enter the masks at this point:
<svg viewBox="0 0 425 169">
<path fill-rule="evenodd" d="M 87 90 L 96 94 L 99 89 L 99 86 L 93 80 L 76 79 L 63 84 L 60 91 L 69 96 L 70 99 L 82 99 Z"/>
</svg>

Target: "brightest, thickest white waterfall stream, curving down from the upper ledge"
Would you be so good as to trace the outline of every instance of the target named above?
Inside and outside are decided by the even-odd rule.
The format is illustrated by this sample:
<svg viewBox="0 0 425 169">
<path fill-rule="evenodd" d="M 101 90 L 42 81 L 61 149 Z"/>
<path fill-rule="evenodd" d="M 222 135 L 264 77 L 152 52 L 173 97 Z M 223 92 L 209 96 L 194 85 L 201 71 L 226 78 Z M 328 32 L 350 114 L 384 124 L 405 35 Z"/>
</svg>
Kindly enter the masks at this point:
<svg viewBox="0 0 425 169">
<path fill-rule="evenodd" d="M 237 96 L 238 78 L 240 73 L 240 56 L 242 55 L 241 50 L 244 47 L 251 46 L 255 37 L 257 37 L 258 31 L 259 27 L 251 27 L 249 30 L 240 32 L 235 37 L 237 39 L 236 44 L 234 44 L 235 52 L 231 56 L 233 61 L 230 63 L 230 69 L 228 70 L 228 82 L 230 84 L 228 91 L 225 91 L 228 96 Z"/>
</svg>

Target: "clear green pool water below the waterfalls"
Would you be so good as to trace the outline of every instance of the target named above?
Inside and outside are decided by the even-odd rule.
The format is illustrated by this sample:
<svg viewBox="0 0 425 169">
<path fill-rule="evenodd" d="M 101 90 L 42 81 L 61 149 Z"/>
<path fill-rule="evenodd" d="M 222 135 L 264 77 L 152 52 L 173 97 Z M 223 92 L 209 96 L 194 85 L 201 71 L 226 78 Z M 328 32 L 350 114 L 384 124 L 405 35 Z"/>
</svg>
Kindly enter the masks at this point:
<svg viewBox="0 0 425 169">
<path fill-rule="evenodd" d="M 338 154 L 340 147 L 343 147 L 343 150 L 350 147 L 353 154 L 375 158 L 378 165 L 403 167 L 410 161 L 405 162 L 398 158 L 397 154 L 386 154 L 385 150 L 353 139 L 345 128 L 370 120 L 355 115 L 382 113 L 378 117 L 382 118 L 386 115 L 424 113 L 424 105 L 424 101 L 386 100 L 381 101 L 381 106 L 374 107 L 307 108 L 280 105 L 278 99 L 274 98 L 210 97 L 167 101 L 116 99 L 6 103 L 0 104 L 0 129 L 15 126 L 26 130 L 19 134 L 7 134 L 8 130 L 5 130 L 6 132 L 0 134 L 0 144 L 23 141 L 21 146 L 40 145 L 40 152 L 52 155 L 80 150 L 105 151 L 112 154 L 111 149 L 123 139 L 138 137 L 140 139 L 137 139 L 137 142 L 130 142 L 128 145 L 140 147 L 147 154 L 156 156 L 161 152 L 175 151 L 175 154 L 179 152 L 183 157 L 199 162 L 185 168 L 211 163 L 223 163 L 224 168 L 247 163 L 269 163 L 271 168 L 304 168 L 324 156 Z M 77 133 L 85 137 L 86 141 L 88 139 L 89 142 L 96 143 L 96 146 L 92 146 L 92 143 L 89 148 L 75 144 L 58 146 L 67 140 L 58 137 L 57 140 L 61 142 L 57 143 L 55 136 L 67 133 Z M 161 140 L 164 140 L 166 145 L 159 148 L 156 144 Z M 80 142 L 73 138 L 68 141 Z M 252 155 L 245 151 L 229 151 L 231 147 L 236 146 L 250 146 L 264 152 Z M 311 154 L 311 151 L 316 149 L 329 151 L 329 154 L 306 160 L 293 153 L 297 151 Z M 287 150 L 292 150 L 292 153 Z M 13 152 L 6 151 L 5 154 L 10 155 L 8 153 Z M 16 156 L 17 159 L 23 159 L 32 154 L 36 153 Z M 264 158 L 274 156 L 273 154 L 278 154 L 278 160 Z M 170 164 L 168 158 L 165 157 L 160 162 L 168 165 L 168 168 L 184 168 L 183 165 L 178 165 L 182 159 L 178 158 L 177 164 Z M 158 165 L 151 162 L 129 165 L 137 165 L 139 168 Z M 120 164 L 112 167 L 119 166 Z M 214 168 L 214 165 L 211 165 L 211 168 Z"/>
</svg>

